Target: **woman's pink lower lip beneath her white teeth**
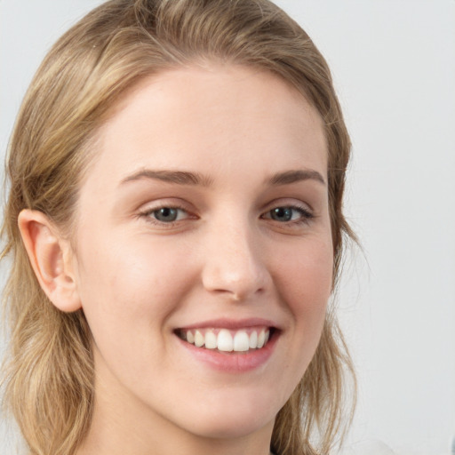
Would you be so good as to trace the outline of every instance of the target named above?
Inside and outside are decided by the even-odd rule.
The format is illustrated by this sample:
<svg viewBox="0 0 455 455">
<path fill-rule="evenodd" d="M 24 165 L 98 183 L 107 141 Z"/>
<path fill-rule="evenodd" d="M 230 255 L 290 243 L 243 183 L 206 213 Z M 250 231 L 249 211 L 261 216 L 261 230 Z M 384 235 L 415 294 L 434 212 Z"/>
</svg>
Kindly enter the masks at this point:
<svg viewBox="0 0 455 455">
<path fill-rule="evenodd" d="M 205 347 L 196 347 L 183 339 L 179 339 L 181 345 L 188 349 L 191 355 L 194 355 L 198 361 L 208 364 L 212 369 L 225 372 L 245 372 L 259 368 L 267 363 L 272 355 L 279 333 L 275 331 L 274 335 L 267 341 L 265 347 L 260 349 L 251 349 L 244 353 L 235 351 L 223 353 L 215 349 Z"/>
</svg>

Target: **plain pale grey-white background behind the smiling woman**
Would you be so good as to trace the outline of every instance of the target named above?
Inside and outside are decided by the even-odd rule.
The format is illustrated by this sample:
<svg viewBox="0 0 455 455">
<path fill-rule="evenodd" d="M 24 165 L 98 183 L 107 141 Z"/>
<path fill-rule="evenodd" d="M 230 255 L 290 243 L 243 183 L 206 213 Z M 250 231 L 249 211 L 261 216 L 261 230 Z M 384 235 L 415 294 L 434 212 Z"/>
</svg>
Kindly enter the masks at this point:
<svg viewBox="0 0 455 455">
<path fill-rule="evenodd" d="M 359 378 L 345 453 L 449 455 L 455 436 L 455 1 L 276 3 L 328 60 L 353 140 L 347 214 L 364 253 L 351 253 L 338 298 Z M 0 0 L 2 159 L 44 53 L 97 4 Z M 1 286 L 4 266 L 0 274 Z M 10 453 L 16 455 L 11 447 Z"/>
</svg>

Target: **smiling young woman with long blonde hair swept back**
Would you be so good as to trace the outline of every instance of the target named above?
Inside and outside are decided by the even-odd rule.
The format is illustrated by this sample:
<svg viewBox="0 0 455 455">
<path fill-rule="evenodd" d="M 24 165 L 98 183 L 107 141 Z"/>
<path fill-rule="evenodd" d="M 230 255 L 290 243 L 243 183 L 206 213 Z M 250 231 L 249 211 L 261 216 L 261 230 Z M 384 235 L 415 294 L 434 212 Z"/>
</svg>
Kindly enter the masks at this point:
<svg viewBox="0 0 455 455">
<path fill-rule="evenodd" d="M 323 57 L 267 0 L 114 0 L 62 36 L 8 157 L 30 452 L 327 453 L 348 157 Z"/>
</svg>

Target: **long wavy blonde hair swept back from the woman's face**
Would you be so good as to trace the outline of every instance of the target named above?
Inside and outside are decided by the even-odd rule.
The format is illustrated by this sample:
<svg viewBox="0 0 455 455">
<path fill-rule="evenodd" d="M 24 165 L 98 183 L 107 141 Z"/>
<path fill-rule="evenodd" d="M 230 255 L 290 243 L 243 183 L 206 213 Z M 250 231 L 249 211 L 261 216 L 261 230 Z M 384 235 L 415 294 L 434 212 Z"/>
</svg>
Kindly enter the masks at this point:
<svg viewBox="0 0 455 455">
<path fill-rule="evenodd" d="M 307 34 L 267 0 L 112 0 L 100 5 L 44 59 L 8 150 L 2 258 L 12 259 L 4 291 L 11 346 L 4 403 L 33 455 L 71 455 L 84 439 L 94 396 L 92 345 L 84 312 L 60 312 L 37 283 L 18 215 L 25 208 L 44 212 L 70 236 L 92 140 L 116 100 L 145 76 L 201 60 L 270 71 L 301 92 L 323 118 L 335 288 L 345 239 L 354 238 L 342 212 L 350 142 L 329 68 Z M 331 449 L 346 414 L 346 371 L 352 373 L 352 364 L 329 311 L 315 356 L 276 417 L 276 454 Z"/>
</svg>

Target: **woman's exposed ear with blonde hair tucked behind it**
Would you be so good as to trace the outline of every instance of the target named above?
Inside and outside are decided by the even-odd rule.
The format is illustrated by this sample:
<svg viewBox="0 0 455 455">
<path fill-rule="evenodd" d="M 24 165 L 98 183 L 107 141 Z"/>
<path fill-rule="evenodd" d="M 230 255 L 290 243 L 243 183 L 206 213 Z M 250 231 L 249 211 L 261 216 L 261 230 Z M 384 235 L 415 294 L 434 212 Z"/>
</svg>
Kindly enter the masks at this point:
<svg viewBox="0 0 455 455">
<path fill-rule="evenodd" d="M 28 259 L 47 297 L 61 311 L 79 309 L 81 302 L 68 241 L 43 212 L 23 210 L 18 223 Z"/>
</svg>

